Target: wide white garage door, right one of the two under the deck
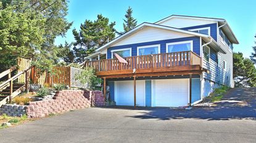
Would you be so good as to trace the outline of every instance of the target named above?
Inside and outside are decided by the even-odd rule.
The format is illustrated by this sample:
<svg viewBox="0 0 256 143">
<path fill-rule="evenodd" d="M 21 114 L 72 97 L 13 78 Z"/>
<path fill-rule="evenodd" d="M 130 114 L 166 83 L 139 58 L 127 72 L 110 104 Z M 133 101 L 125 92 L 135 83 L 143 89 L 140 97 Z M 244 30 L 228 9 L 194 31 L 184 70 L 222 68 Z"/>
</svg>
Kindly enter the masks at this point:
<svg viewBox="0 0 256 143">
<path fill-rule="evenodd" d="M 152 80 L 152 106 L 178 107 L 188 104 L 188 79 Z"/>
</svg>

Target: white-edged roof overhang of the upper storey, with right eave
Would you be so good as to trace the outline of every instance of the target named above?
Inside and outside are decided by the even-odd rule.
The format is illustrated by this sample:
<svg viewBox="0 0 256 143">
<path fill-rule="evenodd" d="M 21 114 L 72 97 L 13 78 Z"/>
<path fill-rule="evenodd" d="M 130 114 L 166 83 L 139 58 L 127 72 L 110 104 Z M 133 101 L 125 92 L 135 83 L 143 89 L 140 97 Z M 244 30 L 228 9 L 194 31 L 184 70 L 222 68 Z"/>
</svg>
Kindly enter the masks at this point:
<svg viewBox="0 0 256 143">
<path fill-rule="evenodd" d="M 226 36 L 228 36 L 229 41 L 234 44 L 239 44 L 236 36 L 234 35 L 233 31 L 228 25 L 228 22 L 223 18 L 210 18 L 210 17 L 194 17 L 194 16 L 187 16 L 187 15 L 171 15 L 169 17 L 163 18 L 162 20 L 156 21 L 155 24 L 160 24 L 164 21 L 170 20 L 171 18 L 190 18 L 190 19 L 197 19 L 197 20 L 209 20 L 209 21 L 217 21 L 218 26 L 222 26 L 221 29 L 225 32 Z"/>
</svg>

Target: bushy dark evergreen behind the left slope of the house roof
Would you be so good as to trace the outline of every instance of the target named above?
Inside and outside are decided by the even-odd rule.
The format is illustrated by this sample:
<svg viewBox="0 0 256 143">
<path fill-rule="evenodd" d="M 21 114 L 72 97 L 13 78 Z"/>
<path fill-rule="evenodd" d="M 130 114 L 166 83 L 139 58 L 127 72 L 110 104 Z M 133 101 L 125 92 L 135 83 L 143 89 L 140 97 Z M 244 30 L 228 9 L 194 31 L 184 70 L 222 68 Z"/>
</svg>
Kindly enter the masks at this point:
<svg viewBox="0 0 256 143">
<path fill-rule="evenodd" d="M 85 57 L 94 53 L 96 48 L 112 41 L 115 38 L 114 26 L 115 22 L 109 23 L 109 18 L 97 15 L 95 21 L 85 20 L 79 32 L 73 29 L 76 63 L 85 61 Z"/>
</svg>

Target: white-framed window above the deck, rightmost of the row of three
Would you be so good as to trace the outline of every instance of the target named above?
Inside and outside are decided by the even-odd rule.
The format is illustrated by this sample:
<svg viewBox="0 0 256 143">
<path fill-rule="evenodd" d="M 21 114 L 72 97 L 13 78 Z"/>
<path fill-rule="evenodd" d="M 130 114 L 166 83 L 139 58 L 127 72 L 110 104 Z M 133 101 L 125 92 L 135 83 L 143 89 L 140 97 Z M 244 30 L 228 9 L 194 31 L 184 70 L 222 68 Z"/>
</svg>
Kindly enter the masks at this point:
<svg viewBox="0 0 256 143">
<path fill-rule="evenodd" d="M 173 42 L 167 44 L 167 53 L 171 52 L 183 52 L 192 50 L 193 41 L 184 41 L 184 42 Z"/>
</svg>

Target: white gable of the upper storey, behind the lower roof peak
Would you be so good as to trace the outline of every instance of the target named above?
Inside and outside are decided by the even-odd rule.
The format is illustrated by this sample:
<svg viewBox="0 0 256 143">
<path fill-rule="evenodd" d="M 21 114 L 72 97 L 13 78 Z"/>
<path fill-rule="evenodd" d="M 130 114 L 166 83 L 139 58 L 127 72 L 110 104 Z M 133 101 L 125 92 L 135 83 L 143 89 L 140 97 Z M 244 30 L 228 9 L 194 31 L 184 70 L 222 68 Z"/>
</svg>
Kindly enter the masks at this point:
<svg viewBox="0 0 256 143">
<path fill-rule="evenodd" d="M 217 23 L 217 21 L 211 20 L 200 20 L 200 19 L 192 19 L 192 18 L 180 18 L 173 17 L 167 20 L 157 22 L 158 25 L 171 26 L 175 28 L 185 28 L 197 25 L 209 25 L 212 23 Z"/>
</svg>

